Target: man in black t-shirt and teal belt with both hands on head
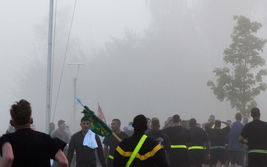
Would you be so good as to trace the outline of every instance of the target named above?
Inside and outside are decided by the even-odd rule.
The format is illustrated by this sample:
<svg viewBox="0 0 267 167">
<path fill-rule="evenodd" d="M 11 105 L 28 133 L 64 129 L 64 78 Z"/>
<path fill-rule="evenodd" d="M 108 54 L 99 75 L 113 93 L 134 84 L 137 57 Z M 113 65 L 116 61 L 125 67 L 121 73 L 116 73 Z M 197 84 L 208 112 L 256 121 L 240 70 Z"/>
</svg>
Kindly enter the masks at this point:
<svg viewBox="0 0 267 167">
<path fill-rule="evenodd" d="M 215 123 L 214 129 L 210 128 L 209 124 Z M 225 128 L 221 129 L 221 123 L 226 124 Z M 210 163 L 212 166 L 222 166 L 225 158 L 225 138 L 232 128 L 233 124 L 220 120 L 210 121 L 202 124 L 206 133 L 209 135 L 210 141 Z"/>
</svg>

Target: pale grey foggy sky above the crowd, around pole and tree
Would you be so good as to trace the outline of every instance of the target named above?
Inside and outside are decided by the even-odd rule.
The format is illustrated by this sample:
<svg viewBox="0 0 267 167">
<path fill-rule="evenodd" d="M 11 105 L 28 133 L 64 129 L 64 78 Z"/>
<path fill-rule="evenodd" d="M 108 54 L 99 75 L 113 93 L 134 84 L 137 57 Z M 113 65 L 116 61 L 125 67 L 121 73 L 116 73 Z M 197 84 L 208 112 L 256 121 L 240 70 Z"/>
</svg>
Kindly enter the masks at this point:
<svg viewBox="0 0 267 167">
<path fill-rule="evenodd" d="M 233 15 L 242 14 L 263 24 L 256 36 L 267 38 L 266 2 L 256 1 L 253 9 L 246 2 L 208 1 L 202 5 L 207 5 L 206 9 L 195 8 L 201 3 L 198 1 L 185 1 L 185 6 L 177 6 L 177 11 L 187 10 L 183 16 L 172 17 L 181 21 L 176 57 L 168 56 L 168 52 L 161 54 L 160 48 L 155 48 L 154 55 L 130 59 L 126 51 L 124 59 L 115 60 L 106 55 L 102 60 L 96 58 L 97 53 L 99 48 L 105 49 L 105 44 L 112 41 L 111 36 L 124 39 L 125 29 L 144 36 L 144 31 L 157 24 L 164 25 L 165 20 L 152 18 L 154 11 L 149 7 L 150 1 L 77 0 L 55 124 L 63 119 L 72 131 L 79 130 L 82 107 L 77 106 L 77 123 L 73 128 L 73 85 L 66 65 L 73 62 L 85 63 L 79 71 L 77 97 L 92 101 L 86 105 L 95 112 L 99 101 L 107 123 L 119 118 L 122 125 L 128 125 L 138 114 L 158 117 L 161 126 L 167 117 L 174 114 L 179 114 L 183 120 L 194 117 L 199 123 L 207 121 L 211 114 L 224 121 L 234 121 L 236 110 L 231 109 L 229 101 L 217 100 L 206 83 L 210 79 L 216 81 L 212 71 L 224 64 L 222 54 L 231 44 L 230 35 L 236 24 Z M 74 3 L 70 0 L 57 1 L 53 112 Z M 0 6 L 1 133 L 5 133 L 8 126 L 10 106 L 21 98 L 32 103 L 34 124 L 38 131 L 44 132 L 49 1 L 1 1 Z M 190 11 L 191 8 L 195 11 Z M 203 18 L 196 26 L 186 20 L 191 18 L 190 12 L 194 12 L 196 18 Z M 176 31 L 172 29 L 172 24 L 161 27 Z M 201 29 L 199 34 L 192 34 L 195 29 Z M 201 43 L 196 42 L 196 36 L 203 39 Z M 162 39 L 171 37 L 163 34 Z M 156 41 L 148 41 L 148 44 L 150 42 Z M 265 46 L 261 54 L 264 59 L 266 49 Z M 71 70 L 74 75 L 76 69 Z M 262 92 L 255 98 L 264 121 L 267 120 L 266 95 Z"/>
</svg>

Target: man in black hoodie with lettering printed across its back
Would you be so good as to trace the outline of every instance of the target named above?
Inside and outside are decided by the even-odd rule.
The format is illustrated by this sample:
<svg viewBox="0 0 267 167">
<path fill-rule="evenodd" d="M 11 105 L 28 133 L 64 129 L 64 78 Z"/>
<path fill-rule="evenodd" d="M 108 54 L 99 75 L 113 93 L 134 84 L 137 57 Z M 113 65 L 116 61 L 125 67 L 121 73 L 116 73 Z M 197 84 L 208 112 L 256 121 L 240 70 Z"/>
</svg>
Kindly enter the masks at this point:
<svg viewBox="0 0 267 167">
<path fill-rule="evenodd" d="M 158 118 L 153 118 L 151 121 L 152 131 L 148 133 L 148 137 L 158 141 L 163 150 L 167 153 L 170 152 L 170 140 L 169 137 L 160 130 L 160 122 Z"/>
</svg>

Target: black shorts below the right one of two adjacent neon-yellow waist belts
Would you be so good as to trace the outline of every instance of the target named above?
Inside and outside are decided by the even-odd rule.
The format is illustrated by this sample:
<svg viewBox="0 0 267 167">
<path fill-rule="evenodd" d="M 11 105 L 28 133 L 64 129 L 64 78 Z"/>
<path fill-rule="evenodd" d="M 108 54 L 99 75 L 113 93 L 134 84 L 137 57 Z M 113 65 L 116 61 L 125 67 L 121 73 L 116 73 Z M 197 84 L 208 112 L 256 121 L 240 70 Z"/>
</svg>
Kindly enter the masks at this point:
<svg viewBox="0 0 267 167">
<path fill-rule="evenodd" d="M 190 149 L 188 150 L 188 157 L 190 161 L 190 166 L 201 167 L 204 158 L 204 150 Z"/>
</svg>

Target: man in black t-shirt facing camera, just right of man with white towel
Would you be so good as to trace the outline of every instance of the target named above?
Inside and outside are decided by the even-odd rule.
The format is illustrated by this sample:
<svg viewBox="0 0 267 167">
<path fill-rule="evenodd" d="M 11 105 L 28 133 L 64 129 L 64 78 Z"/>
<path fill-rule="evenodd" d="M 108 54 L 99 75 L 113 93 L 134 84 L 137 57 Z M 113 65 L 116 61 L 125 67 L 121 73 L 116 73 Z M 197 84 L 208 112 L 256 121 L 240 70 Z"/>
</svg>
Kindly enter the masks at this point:
<svg viewBox="0 0 267 167">
<path fill-rule="evenodd" d="M 120 127 L 121 127 L 121 121 L 119 119 L 113 119 L 111 122 L 111 130 L 121 140 L 128 138 L 129 136 L 126 133 L 124 133 L 123 131 L 121 131 Z M 103 152 L 104 152 L 105 159 L 107 159 L 107 166 L 113 167 L 114 152 L 115 152 L 117 146 L 119 145 L 119 141 L 117 139 L 115 139 L 112 135 L 109 135 L 109 136 L 104 138 L 103 144 L 104 144 Z M 107 158 L 108 147 L 109 147 L 109 156 Z"/>
</svg>

